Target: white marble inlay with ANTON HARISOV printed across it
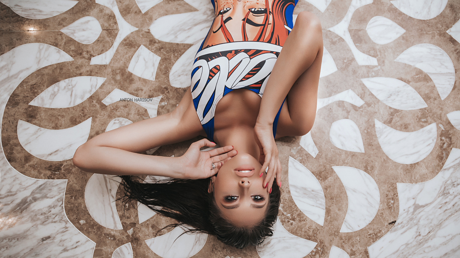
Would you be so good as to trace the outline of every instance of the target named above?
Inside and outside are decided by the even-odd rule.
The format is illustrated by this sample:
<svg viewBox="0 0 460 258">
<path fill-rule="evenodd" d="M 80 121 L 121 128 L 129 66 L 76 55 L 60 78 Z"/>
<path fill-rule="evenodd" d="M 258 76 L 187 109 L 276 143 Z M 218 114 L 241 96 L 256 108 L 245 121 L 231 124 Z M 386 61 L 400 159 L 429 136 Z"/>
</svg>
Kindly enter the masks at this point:
<svg viewBox="0 0 460 258">
<path fill-rule="evenodd" d="M 155 98 L 139 98 L 134 95 L 131 95 L 123 90 L 115 89 L 110 92 L 107 97 L 102 100 L 106 106 L 109 106 L 112 103 L 120 101 L 121 99 L 130 99 L 134 103 L 138 104 L 141 107 L 147 109 L 150 118 L 156 117 L 156 111 L 158 109 L 158 104 L 160 103 L 161 96 Z M 124 103 L 124 101 L 122 101 Z"/>
</svg>

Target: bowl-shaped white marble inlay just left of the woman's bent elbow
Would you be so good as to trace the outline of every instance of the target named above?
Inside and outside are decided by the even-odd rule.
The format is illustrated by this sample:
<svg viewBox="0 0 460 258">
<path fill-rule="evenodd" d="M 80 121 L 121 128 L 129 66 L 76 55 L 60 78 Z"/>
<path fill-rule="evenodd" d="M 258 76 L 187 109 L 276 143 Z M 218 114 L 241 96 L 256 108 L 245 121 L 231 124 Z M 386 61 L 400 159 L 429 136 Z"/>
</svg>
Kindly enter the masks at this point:
<svg viewBox="0 0 460 258">
<path fill-rule="evenodd" d="M 62 161 L 74 157 L 77 148 L 88 140 L 91 118 L 66 129 L 45 129 L 23 120 L 17 122 L 17 139 L 35 157 Z"/>
</svg>

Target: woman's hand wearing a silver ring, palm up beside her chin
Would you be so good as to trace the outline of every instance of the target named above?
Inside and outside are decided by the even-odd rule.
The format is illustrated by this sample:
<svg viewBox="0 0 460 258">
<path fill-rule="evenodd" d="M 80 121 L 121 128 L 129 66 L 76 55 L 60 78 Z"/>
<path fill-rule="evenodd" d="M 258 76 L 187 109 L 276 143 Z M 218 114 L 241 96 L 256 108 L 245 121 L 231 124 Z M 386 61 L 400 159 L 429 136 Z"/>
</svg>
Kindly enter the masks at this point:
<svg viewBox="0 0 460 258">
<path fill-rule="evenodd" d="M 216 146 L 215 143 L 201 139 L 192 143 L 184 155 L 178 157 L 180 164 L 184 168 L 184 178 L 187 179 L 202 179 L 213 176 L 219 172 L 219 168 L 235 156 L 237 151 L 233 150 L 233 146 L 224 146 L 210 151 L 200 151 L 200 148 L 208 146 Z M 213 165 L 216 168 L 213 168 Z"/>
</svg>

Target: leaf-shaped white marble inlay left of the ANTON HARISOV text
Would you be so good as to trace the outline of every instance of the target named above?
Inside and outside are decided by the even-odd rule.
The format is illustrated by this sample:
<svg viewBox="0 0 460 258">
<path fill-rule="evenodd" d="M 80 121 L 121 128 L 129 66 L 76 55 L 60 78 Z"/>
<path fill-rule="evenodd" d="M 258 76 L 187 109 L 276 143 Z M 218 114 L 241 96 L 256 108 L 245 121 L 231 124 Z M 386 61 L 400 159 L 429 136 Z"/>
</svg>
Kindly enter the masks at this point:
<svg viewBox="0 0 460 258">
<path fill-rule="evenodd" d="M 74 107 L 89 98 L 104 81 L 105 78 L 95 76 L 65 79 L 42 91 L 29 105 L 49 108 Z"/>
</svg>

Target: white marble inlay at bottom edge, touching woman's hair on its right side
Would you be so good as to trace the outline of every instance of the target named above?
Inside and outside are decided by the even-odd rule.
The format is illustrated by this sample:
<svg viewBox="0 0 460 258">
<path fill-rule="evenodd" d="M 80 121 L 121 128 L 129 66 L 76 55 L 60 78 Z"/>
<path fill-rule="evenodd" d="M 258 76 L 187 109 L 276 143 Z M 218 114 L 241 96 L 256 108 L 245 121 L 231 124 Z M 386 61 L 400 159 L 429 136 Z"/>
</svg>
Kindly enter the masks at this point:
<svg viewBox="0 0 460 258">
<path fill-rule="evenodd" d="M 276 219 L 273 225 L 273 236 L 256 246 L 260 258 L 302 258 L 316 247 L 316 242 L 306 240 L 289 233 Z"/>
</svg>

